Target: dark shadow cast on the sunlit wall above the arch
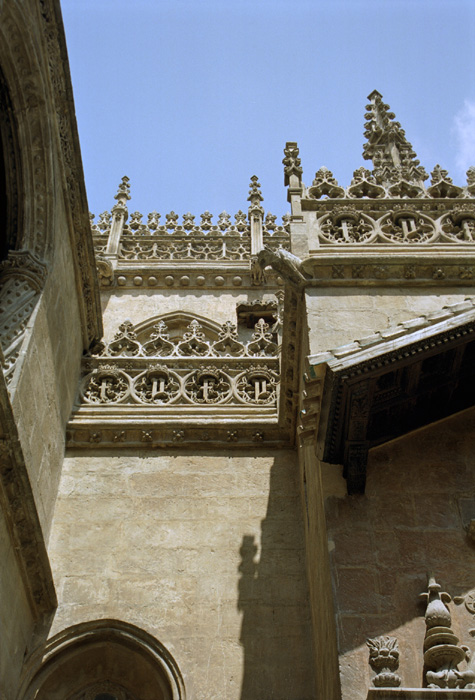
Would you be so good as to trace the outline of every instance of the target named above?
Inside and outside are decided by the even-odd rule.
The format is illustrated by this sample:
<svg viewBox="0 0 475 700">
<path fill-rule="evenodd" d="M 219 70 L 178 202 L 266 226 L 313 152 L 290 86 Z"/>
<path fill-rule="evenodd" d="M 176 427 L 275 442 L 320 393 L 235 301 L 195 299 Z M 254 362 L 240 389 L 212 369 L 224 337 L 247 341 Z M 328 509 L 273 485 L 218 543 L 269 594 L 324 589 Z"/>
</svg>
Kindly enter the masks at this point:
<svg viewBox="0 0 475 700">
<path fill-rule="evenodd" d="M 261 552 L 244 535 L 238 571 L 243 613 L 242 700 L 315 698 L 304 530 L 293 460 L 274 461 Z"/>
</svg>

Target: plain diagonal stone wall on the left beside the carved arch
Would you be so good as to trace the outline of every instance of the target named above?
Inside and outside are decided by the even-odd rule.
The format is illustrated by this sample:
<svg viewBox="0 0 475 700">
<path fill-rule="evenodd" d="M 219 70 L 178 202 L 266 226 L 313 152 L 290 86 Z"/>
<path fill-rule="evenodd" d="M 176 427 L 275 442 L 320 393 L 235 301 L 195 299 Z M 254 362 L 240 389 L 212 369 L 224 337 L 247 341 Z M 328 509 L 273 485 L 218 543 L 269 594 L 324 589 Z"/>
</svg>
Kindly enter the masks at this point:
<svg viewBox="0 0 475 700">
<path fill-rule="evenodd" d="M 81 322 L 67 241 L 38 304 L 12 398 L 45 540 L 64 457 L 64 436 L 80 373 Z"/>
</svg>

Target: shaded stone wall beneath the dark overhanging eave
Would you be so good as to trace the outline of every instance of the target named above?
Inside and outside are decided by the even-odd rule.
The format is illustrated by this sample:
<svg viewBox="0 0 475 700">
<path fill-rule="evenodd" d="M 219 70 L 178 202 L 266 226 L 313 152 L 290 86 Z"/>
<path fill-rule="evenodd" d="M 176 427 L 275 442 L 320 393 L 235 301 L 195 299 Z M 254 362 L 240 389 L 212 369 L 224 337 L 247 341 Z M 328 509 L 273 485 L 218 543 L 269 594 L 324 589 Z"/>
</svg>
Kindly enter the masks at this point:
<svg viewBox="0 0 475 700">
<path fill-rule="evenodd" d="M 399 639 L 400 675 L 422 686 L 424 604 L 432 572 L 451 603 L 453 630 L 472 647 L 463 597 L 475 580 L 473 409 L 370 452 L 364 496 L 343 495 L 339 467 L 326 466 L 328 544 L 337 608 L 343 700 L 366 698 L 366 639 Z"/>
</svg>

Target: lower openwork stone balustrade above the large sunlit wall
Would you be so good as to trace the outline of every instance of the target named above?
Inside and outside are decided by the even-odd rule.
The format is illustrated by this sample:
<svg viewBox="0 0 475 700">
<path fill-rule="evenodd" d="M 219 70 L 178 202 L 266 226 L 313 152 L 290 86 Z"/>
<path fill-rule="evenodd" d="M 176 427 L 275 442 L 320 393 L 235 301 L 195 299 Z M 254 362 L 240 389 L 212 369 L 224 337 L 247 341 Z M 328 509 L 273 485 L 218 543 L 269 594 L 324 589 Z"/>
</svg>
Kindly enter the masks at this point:
<svg viewBox="0 0 475 700">
<path fill-rule="evenodd" d="M 173 337 L 162 319 L 140 333 L 124 321 L 109 343 L 91 350 L 84 373 L 83 404 L 273 406 L 276 333 L 263 318 L 247 341 L 230 321 L 212 332 L 193 318 Z"/>
</svg>

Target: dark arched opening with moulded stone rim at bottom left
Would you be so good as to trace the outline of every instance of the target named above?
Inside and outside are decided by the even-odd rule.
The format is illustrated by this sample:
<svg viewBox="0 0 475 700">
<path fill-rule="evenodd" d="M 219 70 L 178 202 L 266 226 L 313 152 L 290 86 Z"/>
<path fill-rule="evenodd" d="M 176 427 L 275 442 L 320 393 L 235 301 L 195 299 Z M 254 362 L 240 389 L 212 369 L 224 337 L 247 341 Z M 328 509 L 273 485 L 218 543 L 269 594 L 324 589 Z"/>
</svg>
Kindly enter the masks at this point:
<svg viewBox="0 0 475 700">
<path fill-rule="evenodd" d="M 116 620 L 75 625 L 29 665 L 21 700 L 184 700 L 181 674 L 154 637 Z"/>
</svg>

